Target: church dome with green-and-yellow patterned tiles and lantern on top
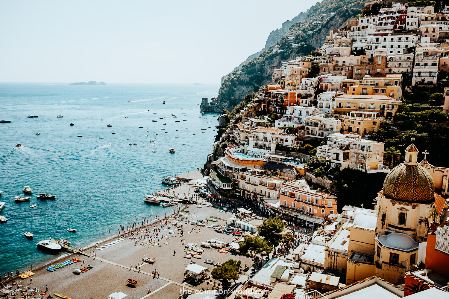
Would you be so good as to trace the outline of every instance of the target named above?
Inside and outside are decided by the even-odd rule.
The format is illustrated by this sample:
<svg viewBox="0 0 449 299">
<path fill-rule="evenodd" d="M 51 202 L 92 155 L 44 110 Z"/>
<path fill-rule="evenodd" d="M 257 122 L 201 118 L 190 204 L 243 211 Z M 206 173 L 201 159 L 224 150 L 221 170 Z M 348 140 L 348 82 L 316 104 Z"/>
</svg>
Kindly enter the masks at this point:
<svg viewBox="0 0 449 299">
<path fill-rule="evenodd" d="M 411 144 L 405 150 L 404 163 L 397 165 L 383 181 L 383 195 L 404 202 L 433 202 L 435 184 L 426 169 L 417 163 L 418 149 Z"/>
</svg>

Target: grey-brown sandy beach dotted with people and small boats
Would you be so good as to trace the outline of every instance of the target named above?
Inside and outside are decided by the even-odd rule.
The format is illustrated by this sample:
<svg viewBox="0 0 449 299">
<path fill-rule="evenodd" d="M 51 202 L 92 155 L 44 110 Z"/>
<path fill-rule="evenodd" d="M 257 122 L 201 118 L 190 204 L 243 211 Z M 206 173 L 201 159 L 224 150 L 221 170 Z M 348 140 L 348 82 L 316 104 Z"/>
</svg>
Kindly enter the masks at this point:
<svg viewBox="0 0 449 299">
<path fill-rule="evenodd" d="M 242 265 L 246 263 L 251 267 L 251 258 L 235 256 L 231 253 L 219 253 L 214 248 L 203 248 L 204 252 L 200 259 L 184 258 L 183 250 L 185 246 L 181 242 L 182 239 L 185 239 L 184 243 L 198 244 L 210 238 L 220 238 L 220 240 L 226 243 L 234 239 L 233 236 L 219 234 L 212 228 L 198 226 L 196 230 L 192 230 L 194 225 L 185 224 L 186 217 L 188 217 L 189 222 L 204 220 L 206 218 L 210 219 L 212 217 L 217 221 L 210 221 L 209 224 L 224 225 L 226 223 L 225 220 L 232 216 L 231 213 L 220 212 L 217 208 L 212 208 L 210 204 L 207 205 L 206 203 L 202 204 L 201 208 L 193 204 L 185 209 L 189 211 L 189 215 L 177 218 L 167 216 L 167 225 L 163 225 L 165 221 L 161 217 L 161 221 L 152 225 L 150 232 L 153 232 L 153 229 L 158 225 L 157 228 L 161 230 L 158 237 L 167 236 L 167 238 L 160 240 L 160 244 L 158 244 L 157 240 L 155 244 L 151 243 L 150 245 L 141 245 L 140 242 L 136 244 L 134 238 L 131 237 L 120 237 L 123 238 L 123 241 L 119 240 L 121 242 L 115 242 L 116 244 L 111 243 L 111 240 L 119 238 L 116 236 L 115 238 L 99 243 L 98 248 L 102 250 L 92 247 L 85 248 L 84 255 L 72 254 L 60 259 L 67 260 L 76 257 L 84 260 L 84 265 L 91 264 L 93 266 L 93 269 L 88 272 L 79 275 L 72 273 L 73 270 L 80 267 L 81 263 L 70 264 L 54 272 L 48 272 L 45 270 L 45 266 L 43 266 L 35 269 L 35 275 L 32 277 L 32 286 L 39 290 L 45 290 L 45 286 L 48 285 L 49 294 L 59 293 L 73 299 L 108 298 L 107 296 L 109 294 L 118 291 L 127 294 L 130 299 L 147 298 L 147 296 L 152 298 L 177 298 L 183 287 L 194 292 L 195 290 L 211 289 L 213 286 L 213 282 L 209 285 L 207 285 L 207 282 L 202 282 L 200 285 L 193 285 L 190 280 L 185 280 L 185 267 L 191 261 L 208 267 L 210 271 L 214 266 L 205 264 L 205 259 L 220 263 L 229 259 L 236 259 L 241 260 Z M 173 209 L 171 208 L 169 211 L 172 212 Z M 173 225 L 174 221 L 177 221 L 178 226 L 183 225 L 183 237 L 180 236 L 180 231 L 177 231 L 176 226 Z M 172 235 L 167 235 L 169 233 L 169 226 L 170 230 L 174 230 Z M 144 231 L 142 230 L 142 232 Z M 136 236 L 143 237 L 142 233 L 136 234 Z M 148 236 L 145 235 L 145 238 L 148 238 Z M 145 239 L 146 241 L 147 239 Z M 96 257 L 93 257 L 94 251 L 97 255 Z M 176 251 L 176 255 L 174 255 L 174 251 Z M 91 257 L 89 257 L 89 252 L 92 252 Z M 142 258 L 144 257 L 155 258 L 156 262 L 153 264 L 142 263 Z M 132 265 L 131 270 L 130 265 Z M 135 270 L 136 265 L 140 265 L 140 272 Z M 159 273 L 159 277 L 154 278 L 152 274 L 154 270 Z M 245 272 L 243 272 L 243 275 L 245 275 Z M 137 281 L 135 287 L 128 284 L 127 279 L 129 278 Z M 21 280 L 19 283 L 28 285 L 30 279 Z M 151 290 L 150 294 L 148 294 L 149 289 Z"/>
</svg>

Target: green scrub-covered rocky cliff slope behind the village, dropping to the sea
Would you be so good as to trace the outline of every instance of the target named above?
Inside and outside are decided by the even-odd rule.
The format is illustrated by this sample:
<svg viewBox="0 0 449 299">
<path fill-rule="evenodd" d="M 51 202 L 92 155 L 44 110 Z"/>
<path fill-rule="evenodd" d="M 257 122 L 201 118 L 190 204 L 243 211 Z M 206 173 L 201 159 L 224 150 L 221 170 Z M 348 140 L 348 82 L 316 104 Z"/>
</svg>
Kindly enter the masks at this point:
<svg viewBox="0 0 449 299">
<path fill-rule="evenodd" d="M 232 110 L 245 95 L 257 92 L 260 86 L 270 83 L 271 74 L 282 65 L 282 61 L 308 55 L 321 47 L 330 30 L 339 28 L 346 19 L 355 17 L 363 5 L 362 0 L 323 0 L 306 13 L 300 13 L 282 24 L 281 29 L 272 31 L 265 45 L 268 48 L 244 63 L 241 69 L 236 68 L 223 77 L 218 97 L 212 102 L 217 106 L 216 111 L 223 108 Z M 289 40 L 289 37 L 294 37 L 294 41 Z M 294 43 L 299 46 L 292 47 Z"/>
</svg>

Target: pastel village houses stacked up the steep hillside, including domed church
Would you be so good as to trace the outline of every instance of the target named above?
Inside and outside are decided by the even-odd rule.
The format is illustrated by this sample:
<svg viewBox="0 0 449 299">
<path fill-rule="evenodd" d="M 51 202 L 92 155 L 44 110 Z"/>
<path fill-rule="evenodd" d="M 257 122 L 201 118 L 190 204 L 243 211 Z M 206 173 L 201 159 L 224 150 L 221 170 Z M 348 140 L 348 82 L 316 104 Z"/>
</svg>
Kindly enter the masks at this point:
<svg viewBox="0 0 449 299">
<path fill-rule="evenodd" d="M 405 161 L 389 169 L 384 143 L 370 136 L 396 114 L 404 89 L 435 86 L 438 71 L 449 70 L 449 9 L 381 2 L 389 4 L 377 15 L 330 30 L 321 56 L 282 62 L 214 144 L 225 148 L 224 157 L 211 162 L 217 196 L 250 200 L 270 216 L 316 229 L 295 243 L 293 256 L 269 260 L 239 286 L 236 298 L 249 298 L 242 290 L 255 286 L 287 294 L 306 285 L 324 294 L 304 298 L 361 298 L 373 290 L 385 298 L 448 297 L 447 263 L 443 268 L 433 256 L 449 262 L 449 228 L 432 220 L 449 221 L 449 169 L 418 162 L 413 140 Z M 449 113 L 449 88 L 444 96 Z M 295 151 L 311 140 L 320 144 L 314 156 Z M 310 183 L 315 177 L 306 162 L 313 159 L 330 168 L 387 173 L 374 209 L 344 206 L 339 214 L 338 196 Z M 419 263 L 426 269 L 415 271 Z"/>
</svg>

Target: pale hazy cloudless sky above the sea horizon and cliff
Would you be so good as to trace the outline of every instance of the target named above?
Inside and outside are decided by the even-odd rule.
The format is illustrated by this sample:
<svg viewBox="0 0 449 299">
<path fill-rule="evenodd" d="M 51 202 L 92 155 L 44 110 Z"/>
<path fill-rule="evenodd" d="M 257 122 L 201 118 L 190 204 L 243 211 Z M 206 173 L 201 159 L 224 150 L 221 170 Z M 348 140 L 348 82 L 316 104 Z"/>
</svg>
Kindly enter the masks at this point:
<svg viewBox="0 0 449 299">
<path fill-rule="evenodd" d="M 220 83 L 315 3 L 3 0 L 0 82 Z"/>
</svg>

